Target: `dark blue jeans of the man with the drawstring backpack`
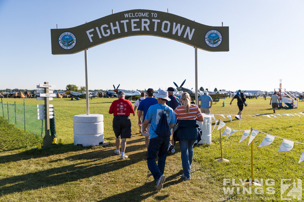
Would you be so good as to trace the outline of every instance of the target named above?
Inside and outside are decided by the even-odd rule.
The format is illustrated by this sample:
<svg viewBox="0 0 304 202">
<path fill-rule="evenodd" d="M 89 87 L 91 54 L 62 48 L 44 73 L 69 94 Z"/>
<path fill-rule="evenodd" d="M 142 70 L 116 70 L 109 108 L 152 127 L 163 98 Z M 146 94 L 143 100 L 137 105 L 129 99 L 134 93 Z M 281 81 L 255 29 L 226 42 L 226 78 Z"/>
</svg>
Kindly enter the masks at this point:
<svg viewBox="0 0 304 202">
<path fill-rule="evenodd" d="M 169 143 L 170 137 L 154 137 L 150 139 L 147 153 L 147 164 L 148 169 L 155 180 L 159 179 L 164 174 Z M 158 162 L 156 164 L 155 159 L 157 152 Z"/>
</svg>

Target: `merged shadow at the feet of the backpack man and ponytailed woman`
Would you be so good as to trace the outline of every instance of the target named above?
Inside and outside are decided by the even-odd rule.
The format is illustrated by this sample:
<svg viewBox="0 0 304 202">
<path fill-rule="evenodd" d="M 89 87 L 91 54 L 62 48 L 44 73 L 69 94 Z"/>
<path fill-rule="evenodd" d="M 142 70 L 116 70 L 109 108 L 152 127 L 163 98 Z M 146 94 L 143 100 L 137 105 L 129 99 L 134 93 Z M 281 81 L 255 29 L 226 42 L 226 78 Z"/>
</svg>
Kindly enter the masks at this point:
<svg viewBox="0 0 304 202">
<path fill-rule="evenodd" d="M 183 179 L 181 179 L 181 178 L 178 180 L 174 180 L 175 178 L 181 176 L 182 173 L 183 173 L 183 171 L 180 171 L 177 174 L 166 177 L 166 181 L 168 181 L 168 182 L 166 183 L 166 181 L 165 181 L 164 188 L 182 182 Z M 151 181 L 140 187 L 136 187 L 129 191 L 119 193 L 119 194 L 110 196 L 108 198 L 104 198 L 99 201 L 118 201 L 119 199 L 121 199 L 123 201 L 143 201 L 143 200 L 147 199 L 148 197 L 151 197 L 157 193 L 161 193 L 161 191 L 156 191 L 155 181 Z M 154 199 L 155 200 L 165 200 L 168 197 L 169 197 L 169 194 L 164 193 L 164 195 L 162 195 L 162 196 L 155 196 Z"/>
</svg>

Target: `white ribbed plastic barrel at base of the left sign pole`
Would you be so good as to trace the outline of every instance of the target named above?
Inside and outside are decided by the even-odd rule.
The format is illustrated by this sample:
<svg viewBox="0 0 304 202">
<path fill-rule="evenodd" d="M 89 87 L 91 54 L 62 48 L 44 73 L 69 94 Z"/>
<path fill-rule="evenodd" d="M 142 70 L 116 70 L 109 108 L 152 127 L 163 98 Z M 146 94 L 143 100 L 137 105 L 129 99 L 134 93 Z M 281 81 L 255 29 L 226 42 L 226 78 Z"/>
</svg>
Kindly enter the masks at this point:
<svg viewBox="0 0 304 202">
<path fill-rule="evenodd" d="M 74 145 L 97 146 L 103 144 L 104 129 L 102 114 L 73 116 Z"/>
</svg>

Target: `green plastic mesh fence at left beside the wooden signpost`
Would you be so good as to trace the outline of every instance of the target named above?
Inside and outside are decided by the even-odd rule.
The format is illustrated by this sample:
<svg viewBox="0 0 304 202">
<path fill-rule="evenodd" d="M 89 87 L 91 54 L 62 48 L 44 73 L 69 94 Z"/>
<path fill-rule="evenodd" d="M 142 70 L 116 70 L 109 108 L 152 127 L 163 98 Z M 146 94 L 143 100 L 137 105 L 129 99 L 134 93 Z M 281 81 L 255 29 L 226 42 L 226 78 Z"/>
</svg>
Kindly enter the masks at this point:
<svg viewBox="0 0 304 202">
<path fill-rule="evenodd" d="M 53 107 L 54 118 L 50 119 L 50 134 L 57 137 L 55 124 L 55 110 Z M 37 105 L 28 104 L 8 104 L 0 102 L 0 116 L 15 124 L 16 127 L 29 131 L 30 133 L 45 135 L 44 119 L 37 120 Z"/>
</svg>

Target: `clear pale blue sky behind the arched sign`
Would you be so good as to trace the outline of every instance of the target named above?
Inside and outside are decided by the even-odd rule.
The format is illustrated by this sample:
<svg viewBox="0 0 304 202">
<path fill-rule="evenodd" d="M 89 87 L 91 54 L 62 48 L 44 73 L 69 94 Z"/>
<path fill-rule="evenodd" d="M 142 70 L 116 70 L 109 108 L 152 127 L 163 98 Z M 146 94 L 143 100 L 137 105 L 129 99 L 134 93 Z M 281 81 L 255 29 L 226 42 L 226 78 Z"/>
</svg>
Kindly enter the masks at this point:
<svg viewBox="0 0 304 202">
<path fill-rule="evenodd" d="M 229 26 L 229 52 L 198 49 L 198 86 L 213 90 L 304 91 L 304 1 L 17 1 L 0 0 L 0 89 L 85 86 L 84 51 L 52 55 L 50 29 L 70 28 L 132 9 L 167 12 L 204 25 Z M 88 88 L 195 87 L 192 46 L 132 36 L 88 49 Z"/>
</svg>

